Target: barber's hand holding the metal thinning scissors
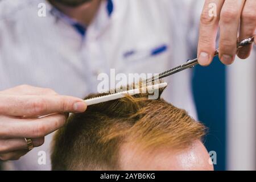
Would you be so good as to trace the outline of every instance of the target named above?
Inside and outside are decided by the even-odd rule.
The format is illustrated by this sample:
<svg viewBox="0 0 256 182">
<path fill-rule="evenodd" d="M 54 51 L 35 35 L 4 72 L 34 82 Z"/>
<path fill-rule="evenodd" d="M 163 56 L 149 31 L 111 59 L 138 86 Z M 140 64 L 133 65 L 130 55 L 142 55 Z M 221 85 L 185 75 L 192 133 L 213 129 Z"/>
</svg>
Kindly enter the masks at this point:
<svg viewBox="0 0 256 182">
<path fill-rule="evenodd" d="M 217 16 L 210 16 L 210 3 L 217 5 Z M 241 48 L 237 53 L 237 37 L 238 32 L 239 41 L 255 35 L 256 1 L 205 0 L 197 53 L 201 65 L 209 65 L 213 59 L 218 28 L 220 28 L 219 57 L 222 63 L 232 64 L 236 54 L 241 59 L 249 57 L 253 44 Z"/>
</svg>

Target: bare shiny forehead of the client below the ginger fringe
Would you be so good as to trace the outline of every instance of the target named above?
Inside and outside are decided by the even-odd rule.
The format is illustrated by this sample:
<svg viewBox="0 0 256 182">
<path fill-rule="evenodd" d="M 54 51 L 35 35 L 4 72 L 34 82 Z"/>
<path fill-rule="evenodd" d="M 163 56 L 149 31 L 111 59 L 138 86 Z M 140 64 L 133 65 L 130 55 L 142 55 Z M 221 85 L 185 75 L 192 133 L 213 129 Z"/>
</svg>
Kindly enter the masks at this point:
<svg viewBox="0 0 256 182">
<path fill-rule="evenodd" d="M 122 170 L 213 170 L 208 152 L 199 140 L 183 149 L 168 145 L 147 151 L 139 148 L 134 143 L 121 146 L 119 166 Z"/>
</svg>

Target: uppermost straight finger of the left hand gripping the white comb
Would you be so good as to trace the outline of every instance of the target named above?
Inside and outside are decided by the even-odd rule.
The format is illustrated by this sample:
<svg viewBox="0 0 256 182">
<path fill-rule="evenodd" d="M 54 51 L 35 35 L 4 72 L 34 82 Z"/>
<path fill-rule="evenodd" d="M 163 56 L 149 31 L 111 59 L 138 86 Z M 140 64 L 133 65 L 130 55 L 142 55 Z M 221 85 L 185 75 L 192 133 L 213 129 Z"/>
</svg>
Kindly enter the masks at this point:
<svg viewBox="0 0 256 182">
<path fill-rule="evenodd" d="M 11 116 L 36 116 L 52 113 L 83 112 L 83 100 L 71 96 L 17 96 L 0 95 L 0 114 Z"/>
</svg>

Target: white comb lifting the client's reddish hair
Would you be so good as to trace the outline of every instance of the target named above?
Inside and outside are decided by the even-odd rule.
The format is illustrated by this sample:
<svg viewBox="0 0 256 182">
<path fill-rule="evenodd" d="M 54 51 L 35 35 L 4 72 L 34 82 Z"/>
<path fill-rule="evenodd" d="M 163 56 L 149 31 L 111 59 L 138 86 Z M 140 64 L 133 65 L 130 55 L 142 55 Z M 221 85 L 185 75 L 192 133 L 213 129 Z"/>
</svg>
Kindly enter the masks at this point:
<svg viewBox="0 0 256 182">
<path fill-rule="evenodd" d="M 99 97 L 93 97 L 93 98 L 89 98 L 87 100 L 84 100 L 86 105 L 93 105 L 93 104 L 99 104 L 101 102 L 107 102 L 107 101 L 112 101 L 112 100 L 116 100 L 118 98 L 123 98 L 125 97 L 127 94 L 130 96 L 133 96 L 135 94 L 140 93 L 140 90 L 144 90 L 147 89 L 147 92 L 151 93 L 154 90 L 157 90 L 159 88 L 164 88 L 167 86 L 166 82 L 160 83 L 160 84 L 155 84 L 155 85 L 150 85 L 147 87 L 142 87 L 142 88 L 138 88 L 138 89 L 132 89 L 132 90 L 127 90 L 124 92 L 118 92 L 118 93 L 114 93 L 114 94 L 109 94 L 106 96 L 99 96 Z"/>
</svg>

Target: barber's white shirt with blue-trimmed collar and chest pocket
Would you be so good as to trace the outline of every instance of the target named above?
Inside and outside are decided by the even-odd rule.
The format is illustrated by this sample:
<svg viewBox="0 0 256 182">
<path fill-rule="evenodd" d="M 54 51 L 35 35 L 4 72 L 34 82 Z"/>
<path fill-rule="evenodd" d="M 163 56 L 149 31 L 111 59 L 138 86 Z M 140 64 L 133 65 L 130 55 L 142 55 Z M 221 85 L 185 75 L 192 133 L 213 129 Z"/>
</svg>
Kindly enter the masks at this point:
<svg viewBox="0 0 256 182">
<path fill-rule="evenodd" d="M 46 17 L 38 16 L 41 2 L 47 5 Z M 113 2 L 110 18 L 102 2 L 83 40 L 72 26 L 49 13 L 46 1 L 0 1 L 0 90 L 29 84 L 84 97 L 97 92 L 98 73 L 109 73 L 110 68 L 116 73 L 159 73 L 195 57 L 202 1 L 197 1 L 200 6 L 171 0 Z M 161 45 L 167 51 L 150 55 Z M 129 52 L 133 54 L 125 57 Z M 196 118 L 191 72 L 166 81 L 163 98 Z M 51 138 L 48 135 L 43 146 L 10 162 L 11 169 L 50 169 Z M 46 151 L 46 165 L 38 164 L 39 151 Z"/>
</svg>

